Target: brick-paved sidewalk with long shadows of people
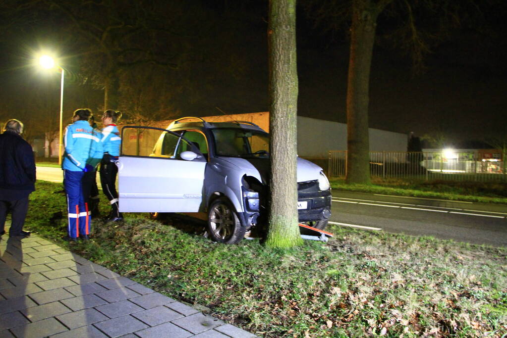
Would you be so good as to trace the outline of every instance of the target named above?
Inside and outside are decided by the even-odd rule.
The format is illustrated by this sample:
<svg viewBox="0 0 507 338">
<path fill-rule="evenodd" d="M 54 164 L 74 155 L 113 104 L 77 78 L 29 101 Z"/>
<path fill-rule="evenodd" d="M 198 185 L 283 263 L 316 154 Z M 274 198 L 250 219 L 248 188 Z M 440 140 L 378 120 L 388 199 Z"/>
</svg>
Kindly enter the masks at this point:
<svg viewBox="0 0 507 338">
<path fill-rule="evenodd" d="M 255 337 L 31 235 L 0 240 L 0 337 Z"/>
</svg>

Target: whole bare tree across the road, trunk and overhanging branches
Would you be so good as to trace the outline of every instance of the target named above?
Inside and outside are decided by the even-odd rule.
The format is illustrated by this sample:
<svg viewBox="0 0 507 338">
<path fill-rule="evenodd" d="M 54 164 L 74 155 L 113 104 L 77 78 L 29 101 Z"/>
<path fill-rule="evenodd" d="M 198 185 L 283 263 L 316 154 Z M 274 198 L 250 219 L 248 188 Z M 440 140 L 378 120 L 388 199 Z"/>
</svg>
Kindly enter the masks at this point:
<svg viewBox="0 0 507 338">
<path fill-rule="evenodd" d="M 494 2 L 495 0 L 491 0 Z M 347 182 L 370 183 L 368 113 L 370 68 L 377 23 L 382 15 L 382 42 L 411 55 L 415 72 L 424 56 L 449 37 L 463 21 L 481 16 L 476 0 L 306 0 L 311 17 L 324 30 L 350 31 L 347 80 Z"/>
</svg>

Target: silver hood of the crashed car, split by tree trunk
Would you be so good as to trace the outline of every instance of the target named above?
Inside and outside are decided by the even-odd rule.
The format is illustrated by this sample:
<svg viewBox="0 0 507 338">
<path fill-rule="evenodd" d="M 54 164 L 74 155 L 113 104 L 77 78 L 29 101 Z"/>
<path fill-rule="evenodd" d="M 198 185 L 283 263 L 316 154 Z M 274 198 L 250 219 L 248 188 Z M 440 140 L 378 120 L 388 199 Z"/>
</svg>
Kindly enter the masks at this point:
<svg viewBox="0 0 507 338">
<path fill-rule="evenodd" d="M 269 158 L 239 158 L 239 157 L 220 157 L 221 160 L 229 162 L 248 176 L 253 176 L 263 184 L 269 182 Z M 298 182 L 318 180 L 322 168 L 315 163 L 298 157 Z"/>
</svg>

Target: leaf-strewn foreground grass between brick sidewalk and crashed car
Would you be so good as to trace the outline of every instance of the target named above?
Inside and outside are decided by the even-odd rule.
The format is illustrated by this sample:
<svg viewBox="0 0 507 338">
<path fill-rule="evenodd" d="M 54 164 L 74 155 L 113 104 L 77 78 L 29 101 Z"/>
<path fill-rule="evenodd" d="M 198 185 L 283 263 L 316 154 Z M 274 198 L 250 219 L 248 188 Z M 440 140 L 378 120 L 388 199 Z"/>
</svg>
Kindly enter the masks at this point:
<svg viewBox="0 0 507 338">
<path fill-rule="evenodd" d="M 48 222 L 65 210 L 61 184 L 38 181 L 37 189 L 27 228 L 261 336 L 507 332 L 507 248 L 330 227 L 328 243 L 273 250 L 257 240 L 213 243 L 141 214 L 94 222 L 91 241 L 68 244 L 65 220 Z"/>
</svg>

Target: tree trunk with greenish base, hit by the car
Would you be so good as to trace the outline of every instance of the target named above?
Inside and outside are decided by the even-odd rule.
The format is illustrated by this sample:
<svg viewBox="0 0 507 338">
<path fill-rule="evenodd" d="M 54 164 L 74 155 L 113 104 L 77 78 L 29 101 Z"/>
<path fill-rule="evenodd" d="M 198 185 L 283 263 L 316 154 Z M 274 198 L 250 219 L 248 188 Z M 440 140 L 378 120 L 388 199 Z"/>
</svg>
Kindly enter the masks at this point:
<svg viewBox="0 0 507 338">
<path fill-rule="evenodd" d="M 296 0 L 269 2 L 271 176 L 266 245 L 302 243 L 298 227 Z"/>
</svg>

